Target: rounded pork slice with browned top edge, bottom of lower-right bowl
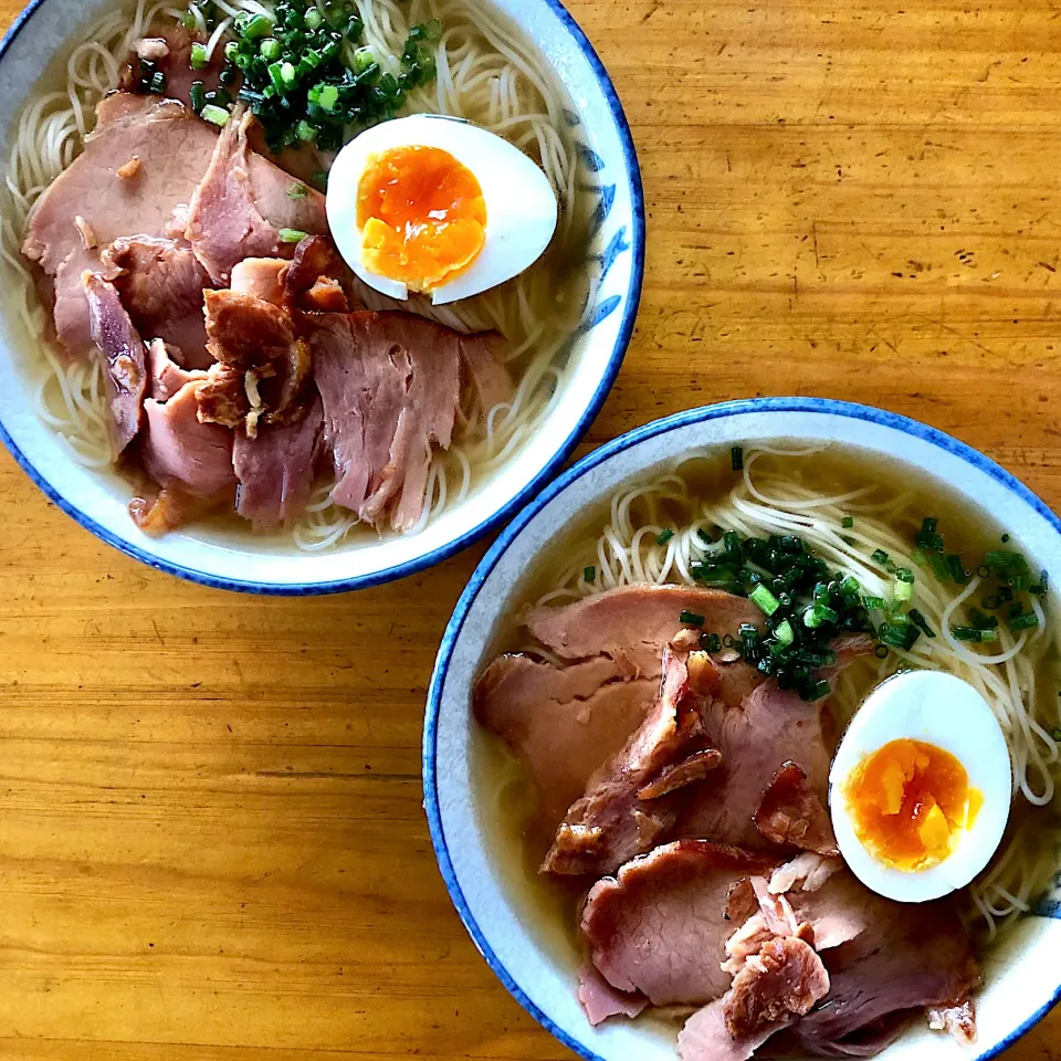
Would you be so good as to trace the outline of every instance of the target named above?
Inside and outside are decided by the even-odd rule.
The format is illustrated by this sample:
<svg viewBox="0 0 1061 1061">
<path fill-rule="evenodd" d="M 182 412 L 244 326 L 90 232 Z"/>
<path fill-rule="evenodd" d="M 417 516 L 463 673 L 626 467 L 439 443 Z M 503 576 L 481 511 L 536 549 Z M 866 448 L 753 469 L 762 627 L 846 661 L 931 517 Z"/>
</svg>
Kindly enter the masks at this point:
<svg viewBox="0 0 1061 1061">
<path fill-rule="evenodd" d="M 704 1005 L 729 988 L 722 968 L 731 891 L 774 861 L 737 848 L 681 840 L 628 862 L 593 885 L 580 931 L 598 971 L 656 1006 Z"/>
</svg>

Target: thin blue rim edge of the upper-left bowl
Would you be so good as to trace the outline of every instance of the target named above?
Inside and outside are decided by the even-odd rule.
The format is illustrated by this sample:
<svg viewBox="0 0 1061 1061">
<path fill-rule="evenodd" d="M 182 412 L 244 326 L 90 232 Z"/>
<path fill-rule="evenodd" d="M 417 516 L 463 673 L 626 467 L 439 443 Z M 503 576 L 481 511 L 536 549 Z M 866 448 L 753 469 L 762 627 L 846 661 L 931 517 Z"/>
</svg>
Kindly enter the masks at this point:
<svg viewBox="0 0 1061 1061">
<path fill-rule="evenodd" d="M 0 40 L 0 60 L 3 59 L 7 50 L 18 38 L 21 31 L 27 27 L 33 14 L 41 8 L 46 0 L 32 0 L 32 2 L 14 20 L 11 28 Z M 626 358 L 630 340 L 633 338 L 633 329 L 638 318 L 638 309 L 641 304 L 641 288 L 644 281 L 644 255 L 645 255 L 645 221 L 644 221 L 644 188 L 641 181 L 641 165 L 638 161 L 638 150 L 633 143 L 633 134 L 630 130 L 630 123 L 627 120 L 622 102 L 619 93 L 611 81 L 611 76 L 605 69 L 600 56 L 597 54 L 589 38 L 582 32 L 581 27 L 575 21 L 570 12 L 564 7 L 560 0 L 539 0 L 544 3 L 559 20 L 560 24 L 567 30 L 576 46 L 582 53 L 589 63 L 597 83 L 600 86 L 601 94 L 605 97 L 608 108 L 611 112 L 612 119 L 616 123 L 616 129 L 619 134 L 619 140 L 622 145 L 623 161 L 629 175 L 630 202 L 633 213 L 633 235 L 631 244 L 633 248 L 633 266 L 630 273 L 630 286 L 627 291 L 626 308 L 623 311 L 622 325 L 619 329 L 619 336 L 616 339 L 611 357 L 600 378 L 597 390 L 586 406 L 578 423 L 568 434 L 564 443 L 557 449 L 553 458 L 546 462 L 542 470 L 510 501 L 506 505 L 498 508 L 493 515 L 484 519 L 479 526 L 461 535 L 459 538 L 441 546 L 432 553 L 408 560 L 405 564 L 396 565 L 381 571 L 374 571 L 369 575 L 359 575 L 353 578 L 342 579 L 334 582 L 258 582 L 244 581 L 238 578 L 224 578 L 218 575 L 209 575 L 204 571 L 197 571 L 193 568 L 183 567 L 169 560 L 164 560 L 150 553 L 145 551 L 139 546 L 127 542 L 118 535 L 112 533 L 85 515 L 80 508 L 72 505 L 66 498 L 55 490 L 51 483 L 46 482 L 40 475 L 33 464 L 27 460 L 22 451 L 15 445 L 14 440 L 8 433 L 3 423 L 0 423 L 0 442 L 7 447 L 8 451 L 15 459 L 23 472 L 33 481 L 44 495 L 61 508 L 67 516 L 81 524 L 86 530 L 94 534 L 105 544 L 113 546 L 119 553 L 146 564 L 158 571 L 167 575 L 174 575 L 177 578 L 195 582 L 199 586 L 207 586 L 211 589 L 227 589 L 234 592 L 252 593 L 262 597 L 325 597 L 332 593 L 345 593 L 357 589 L 368 589 L 372 586 L 382 586 L 387 582 L 406 578 L 409 575 L 416 575 L 430 567 L 434 567 L 444 560 L 450 559 L 463 549 L 473 545 L 484 535 L 489 534 L 495 527 L 507 522 L 515 515 L 529 497 L 540 490 L 554 474 L 567 462 L 568 458 L 575 451 L 582 435 L 589 430 L 590 424 L 597 419 L 605 405 L 605 400 L 611 392 L 619 369 Z"/>
</svg>

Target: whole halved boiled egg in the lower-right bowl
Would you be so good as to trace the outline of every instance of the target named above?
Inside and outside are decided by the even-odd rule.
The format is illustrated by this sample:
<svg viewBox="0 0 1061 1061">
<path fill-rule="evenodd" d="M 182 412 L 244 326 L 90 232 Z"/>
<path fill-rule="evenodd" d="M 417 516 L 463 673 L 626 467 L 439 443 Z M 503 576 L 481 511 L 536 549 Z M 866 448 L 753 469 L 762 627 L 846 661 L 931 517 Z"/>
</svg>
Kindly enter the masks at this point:
<svg viewBox="0 0 1061 1061">
<path fill-rule="evenodd" d="M 1001 842 L 1011 769 L 971 685 L 938 671 L 897 674 L 866 697 L 832 764 L 840 853 L 887 899 L 921 903 L 964 887 Z"/>
</svg>

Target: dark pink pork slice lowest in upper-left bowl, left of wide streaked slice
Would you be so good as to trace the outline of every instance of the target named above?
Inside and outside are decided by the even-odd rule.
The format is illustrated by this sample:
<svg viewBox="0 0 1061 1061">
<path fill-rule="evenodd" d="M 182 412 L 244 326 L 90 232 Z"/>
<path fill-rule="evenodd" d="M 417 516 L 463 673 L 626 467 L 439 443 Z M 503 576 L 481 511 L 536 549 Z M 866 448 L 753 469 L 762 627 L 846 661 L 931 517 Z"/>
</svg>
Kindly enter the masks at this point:
<svg viewBox="0 0 1061 1061">
<path fill-rule="evenodd" d="M 290 524 L 305 511 L 324 432 L 319 398 L 294 423 L 266 426 L 258 437 L 238 433 L 232 448 L 240 481 L 235 511 L 260 529 Z"/>
</svg>

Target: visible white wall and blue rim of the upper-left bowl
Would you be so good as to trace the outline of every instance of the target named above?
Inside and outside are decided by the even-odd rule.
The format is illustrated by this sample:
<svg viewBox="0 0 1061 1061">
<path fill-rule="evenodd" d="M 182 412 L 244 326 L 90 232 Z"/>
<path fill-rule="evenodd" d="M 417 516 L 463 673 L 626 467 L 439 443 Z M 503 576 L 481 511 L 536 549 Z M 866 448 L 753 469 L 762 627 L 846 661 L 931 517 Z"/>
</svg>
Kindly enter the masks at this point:
<svg viewBox="0 0 1061 1061">
<path fill-rule="evenodd" d="M 510 518 L 549 481 L 600 411 L 633 334 L 644 271 L 644 198 L 622 105 L 592 45 L 559 0 L 492 0 L 560 74 L 579 112 L 570 120 L 584 170 L 599 197 L 589 265 L 599 284 L 575 339 L 560 400 L 534 435 L 493 475 L 422 533 L 358 540 L 321 554 L 255 546 L 191 527 L 164 538 L 129 518 L 129 491 L 114 476 L 71 461 L 56 435 L 31 411 L 22 369 L 27 337 L 0 304 L 0 439 L 38 486 L 104 542 L 151 567 L 191 581 L 254 593 L 308 596 L 390 581 L 441 563 Z M 14 123 L 53 61 L 113 0 L 33 0 L 0 42 L 0 158 Z"/>
</svg>

